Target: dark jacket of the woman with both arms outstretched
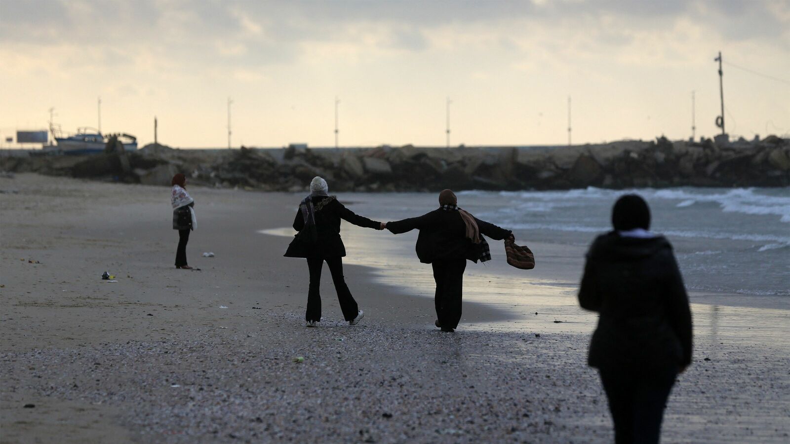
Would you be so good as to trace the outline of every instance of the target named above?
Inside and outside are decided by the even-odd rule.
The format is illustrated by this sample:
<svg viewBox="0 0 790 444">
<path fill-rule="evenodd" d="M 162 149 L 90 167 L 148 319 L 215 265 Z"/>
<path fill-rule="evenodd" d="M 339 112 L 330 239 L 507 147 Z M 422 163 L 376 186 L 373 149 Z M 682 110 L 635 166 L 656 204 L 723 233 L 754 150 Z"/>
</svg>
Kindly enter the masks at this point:
<svg viewBox="0 0 790 444">
<path fill-rule="evenodd" d="M 475 218 L 480 233 L 491 239 L 502 240 L 510 230 L 497 227 Z M 419 262 L 430 264 L 442 259 L 468 259 L 477 262 L 480 258 L 480 243 L 472 243 L 466 237 L 466 225 L 457 211 L 434 209 L 431 213 L 410 219 L 387 222 L 387 229 L 398 235 L 414 229 L 419 230 L 415 250 Z"/>
</svg>

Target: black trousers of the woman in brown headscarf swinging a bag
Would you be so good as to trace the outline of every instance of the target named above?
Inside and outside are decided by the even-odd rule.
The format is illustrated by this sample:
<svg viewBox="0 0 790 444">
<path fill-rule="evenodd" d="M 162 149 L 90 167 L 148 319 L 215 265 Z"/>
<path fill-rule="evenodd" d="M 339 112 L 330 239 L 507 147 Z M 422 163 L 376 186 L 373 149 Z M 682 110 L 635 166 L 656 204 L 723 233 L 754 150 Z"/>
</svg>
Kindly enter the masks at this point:
<svg viewBox="0 0 790 444">
<path fill-rule="evenodd" d="M 436 316 L 442 327 L 455 329 L 461 321 L 461 296 L 464 291 L 466 259 L 434 261 Z"/>
</svg>

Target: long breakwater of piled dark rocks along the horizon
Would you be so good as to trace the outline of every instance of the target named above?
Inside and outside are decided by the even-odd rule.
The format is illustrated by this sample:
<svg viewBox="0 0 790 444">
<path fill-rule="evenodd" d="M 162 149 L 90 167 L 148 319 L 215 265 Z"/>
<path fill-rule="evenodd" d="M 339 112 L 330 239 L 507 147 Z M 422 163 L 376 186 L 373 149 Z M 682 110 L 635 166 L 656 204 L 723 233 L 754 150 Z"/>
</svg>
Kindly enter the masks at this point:
<svg viewBox="0 0 790 444">
<path fill-rule="evenodd" d="M 306 190 L 315 175 L 333 190 L 556 190 L 667 186 L 790 186 L 790 139 L 615 141 L 570 147 L 171 149 L 98 156 L 3 158 L 6 171 L 168 185 L 175 172 L 207 186 Z"/>
</svg>

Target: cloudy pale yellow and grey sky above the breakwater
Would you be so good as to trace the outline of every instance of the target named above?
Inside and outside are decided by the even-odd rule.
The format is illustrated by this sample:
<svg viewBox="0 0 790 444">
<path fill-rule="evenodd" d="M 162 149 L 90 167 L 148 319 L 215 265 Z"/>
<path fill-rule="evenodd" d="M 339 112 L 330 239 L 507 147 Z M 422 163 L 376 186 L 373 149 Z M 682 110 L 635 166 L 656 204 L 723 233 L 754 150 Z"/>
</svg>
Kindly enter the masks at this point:
<svg viewBox="0 0 790 444">
<path fill-rule="evenodd" d="M 540 145 L 790 133 L 790 1 L 0 0 L 0 133 L 141 144 Z M 737 68 L 740 66 L 757 73 Z M 774 79 L 758 73 L 775 77 Z"/>
</svg>

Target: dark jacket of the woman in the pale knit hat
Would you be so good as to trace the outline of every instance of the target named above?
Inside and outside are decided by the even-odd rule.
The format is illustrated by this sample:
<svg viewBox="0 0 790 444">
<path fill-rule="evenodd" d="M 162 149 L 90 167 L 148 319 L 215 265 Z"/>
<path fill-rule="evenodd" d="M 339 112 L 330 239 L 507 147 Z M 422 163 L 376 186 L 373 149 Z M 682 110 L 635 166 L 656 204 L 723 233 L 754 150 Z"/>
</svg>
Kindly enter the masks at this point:
<svg viewBox="0 0 790 444">
<path fill-rule="evenodd" d="M 315 228 L 318 242 L 308 244 L 295 235 L 285 251 L 287 258 L 333 258 L 345 256 L 343 239 L 340 239 L 340 219 L 364 228 L 381 229 L 381 222 L 358 216 L 334 196 L 314 196 L 313 207 L 315 211 Z M 296 231 L 304 228 L 302 212 L 296 210 L 293 227 Z"/>
</svg>

